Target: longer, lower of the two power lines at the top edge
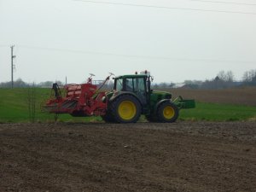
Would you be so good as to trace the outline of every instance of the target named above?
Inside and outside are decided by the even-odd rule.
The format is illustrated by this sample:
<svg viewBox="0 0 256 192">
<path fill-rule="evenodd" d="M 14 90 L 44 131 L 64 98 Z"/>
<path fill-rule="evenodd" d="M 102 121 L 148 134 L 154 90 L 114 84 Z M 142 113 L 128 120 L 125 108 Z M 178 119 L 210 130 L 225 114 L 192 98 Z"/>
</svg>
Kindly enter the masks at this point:
<svg viewBox="0 0 256 192">
<path fill-rule="evenodd" d="M 216 12 L 216 13 L 226 13 L 226 14 L 256 15 L 256 13 L 247 13 L 247 12 L 240 12 L 240 11 L 224 11 L 224 10 L 213 10 L 213 9 L 175 8 L 175 7 L 165 7 L 165 6 L 155 6 L 155 5 L 145 5 L 145 4 L 111 3 L 111 2 L 100 2 L 100 1 L 90 1 L 90 0 L 73 0 L 73 1 L 84 2 L 84 3 L 102 3 L 102 4 L 132 6 L 132 7 L 155 8 L 155 9 L 177 9 L 177 10 Z"/>
</svg>

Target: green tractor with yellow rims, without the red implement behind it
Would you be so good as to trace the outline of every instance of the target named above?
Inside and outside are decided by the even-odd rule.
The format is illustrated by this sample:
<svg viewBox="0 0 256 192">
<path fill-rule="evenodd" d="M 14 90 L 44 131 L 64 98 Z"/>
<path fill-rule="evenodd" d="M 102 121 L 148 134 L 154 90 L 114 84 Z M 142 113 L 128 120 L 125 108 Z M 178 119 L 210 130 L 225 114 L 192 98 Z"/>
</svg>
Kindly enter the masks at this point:
<svg viewBox="0 0 256 192">
<path fill-rule="evenodd" d="M 166 91 L 151 90 L 149 73 L 122 75 L 114 78 L 113 91 L 106 94 L 106 122 L 136 123 L 141 114 L 149 122 L 172 123 L 182 108 L 195 108 L 195 100 L 182 96 L 172 99 Z"/>
</svg>

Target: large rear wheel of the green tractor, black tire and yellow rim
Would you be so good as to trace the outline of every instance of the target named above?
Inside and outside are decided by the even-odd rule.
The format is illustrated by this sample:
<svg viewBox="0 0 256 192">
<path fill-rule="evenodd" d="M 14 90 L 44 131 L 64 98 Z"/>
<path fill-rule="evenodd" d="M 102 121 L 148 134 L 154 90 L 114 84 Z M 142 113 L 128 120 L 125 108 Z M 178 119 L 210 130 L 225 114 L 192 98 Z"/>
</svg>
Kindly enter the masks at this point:
<svg viewBox="0 0 256 192">
<path fill-rule="evenodd" d="M 117 123 L 136 123 L 142 113 L 142 107 L 135 96 L 117 97 L 111 104 L 111 115 Z"/>
</svg>

